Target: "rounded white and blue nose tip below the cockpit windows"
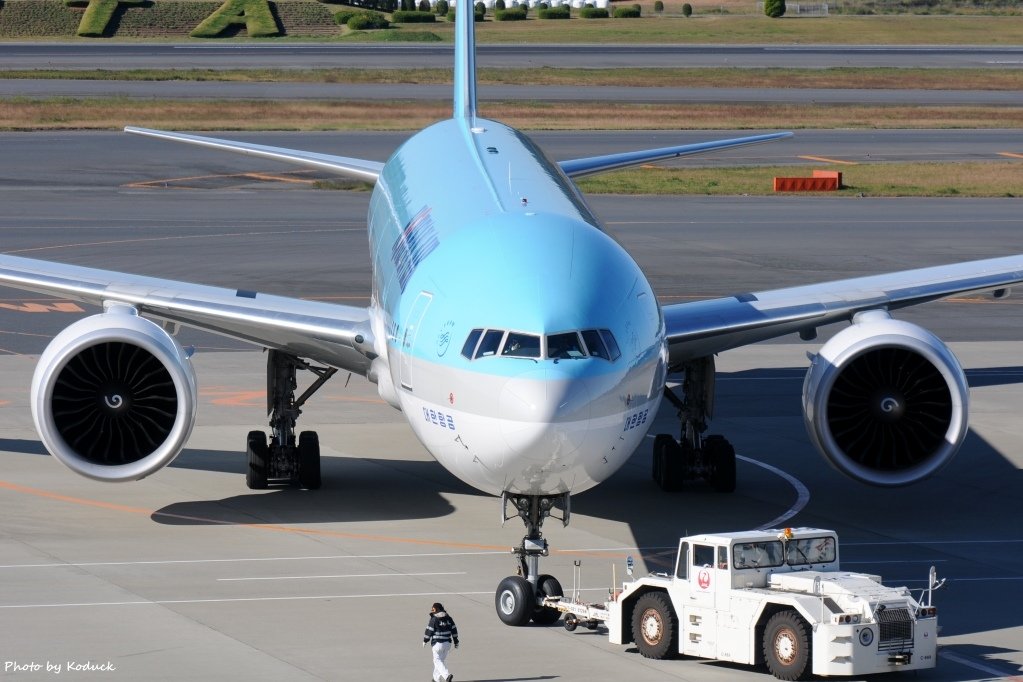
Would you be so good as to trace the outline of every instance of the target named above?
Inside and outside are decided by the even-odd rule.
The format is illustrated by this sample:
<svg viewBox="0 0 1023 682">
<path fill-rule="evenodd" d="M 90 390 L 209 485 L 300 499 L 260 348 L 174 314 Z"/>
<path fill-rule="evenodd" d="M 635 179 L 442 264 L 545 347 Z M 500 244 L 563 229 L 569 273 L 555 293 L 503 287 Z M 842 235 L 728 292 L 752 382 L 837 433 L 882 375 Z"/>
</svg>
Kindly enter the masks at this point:
<svg viewBox="0 0 1023 682">
<path fill-rule="evenodd" d="M 508 448 L 547 461 L 582 446 L 590 396 L 578 378 L 555 367 L 542 367 L 509 379 L 501 390 L 498 409 Z"/>
</svg>

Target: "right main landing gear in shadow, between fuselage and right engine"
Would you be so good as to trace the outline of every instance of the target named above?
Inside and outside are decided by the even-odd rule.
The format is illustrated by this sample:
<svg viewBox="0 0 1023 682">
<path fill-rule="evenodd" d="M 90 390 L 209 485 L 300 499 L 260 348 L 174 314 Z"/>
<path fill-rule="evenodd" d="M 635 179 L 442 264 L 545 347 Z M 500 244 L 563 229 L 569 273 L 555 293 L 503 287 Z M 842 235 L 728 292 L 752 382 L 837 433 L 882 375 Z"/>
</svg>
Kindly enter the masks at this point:
<svg viewBox="0 0 1023 682">
<path fill-rule="evenodd" d="M 662 490 L 681 490 L 685 481 L 704 480 L 721 493 L 736 490 L 736 449 L 723 436 L 704 436 L 714 408 L 714 358 L 682 365 L 682 398 L 664 387 L 678 409 L 678 440 L 669 434 L 654 438 L 654 481 Z"/>
</svg>

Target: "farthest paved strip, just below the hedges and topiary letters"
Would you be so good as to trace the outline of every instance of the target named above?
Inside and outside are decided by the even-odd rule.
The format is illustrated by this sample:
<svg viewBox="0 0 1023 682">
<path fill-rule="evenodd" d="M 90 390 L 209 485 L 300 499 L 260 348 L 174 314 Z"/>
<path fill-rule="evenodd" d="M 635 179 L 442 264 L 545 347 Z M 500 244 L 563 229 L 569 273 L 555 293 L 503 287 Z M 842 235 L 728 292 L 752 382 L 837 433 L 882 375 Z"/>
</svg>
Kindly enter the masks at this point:
<svg viewBox="0 0 1023 682">
<path fill-rule="evenodd" d="M 450 45 L 5 43 L 5 69 L 448 69 Z M 480 45 L 481 66 L 1018 69 L 1023 46 Z"/>
</svg>

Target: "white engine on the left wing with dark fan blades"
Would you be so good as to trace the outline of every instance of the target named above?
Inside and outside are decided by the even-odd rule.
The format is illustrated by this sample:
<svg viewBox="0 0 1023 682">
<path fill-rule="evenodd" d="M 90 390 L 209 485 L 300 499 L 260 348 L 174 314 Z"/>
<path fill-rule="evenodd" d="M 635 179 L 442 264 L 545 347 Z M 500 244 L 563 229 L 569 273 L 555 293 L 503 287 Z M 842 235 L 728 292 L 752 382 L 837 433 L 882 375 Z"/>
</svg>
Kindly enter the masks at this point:
<svg viewBox="0 0 1023 682">
<path fill-rule="evenodd" d="M 72 470 L 137 481 L 181 452 L 196 407 L 195 373 L 159 325 L 113 306 L 61 331 L 32 378 L 39 437 Z"/>
</svg>

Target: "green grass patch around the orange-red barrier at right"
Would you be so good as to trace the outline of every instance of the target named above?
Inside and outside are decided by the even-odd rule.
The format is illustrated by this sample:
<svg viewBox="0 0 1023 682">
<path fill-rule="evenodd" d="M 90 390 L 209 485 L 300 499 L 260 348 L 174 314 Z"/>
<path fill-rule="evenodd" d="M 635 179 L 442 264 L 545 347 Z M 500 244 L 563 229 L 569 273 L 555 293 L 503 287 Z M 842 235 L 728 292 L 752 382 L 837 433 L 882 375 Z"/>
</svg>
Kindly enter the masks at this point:
<svg viewBox="0 0 1023 682">
<path fill-rule="evenodd" d="M 663 168 L 644 166 L 581 179 L 590 194 L 773 194 L 773 178 L 808 177 L 822 166 Z M 843 166 L 844 189 L 820 196 L 1023 196 L 1023 162 Z M 786 192 L 790 193 L 790 192 Z"/>
</svg>

